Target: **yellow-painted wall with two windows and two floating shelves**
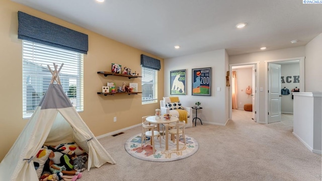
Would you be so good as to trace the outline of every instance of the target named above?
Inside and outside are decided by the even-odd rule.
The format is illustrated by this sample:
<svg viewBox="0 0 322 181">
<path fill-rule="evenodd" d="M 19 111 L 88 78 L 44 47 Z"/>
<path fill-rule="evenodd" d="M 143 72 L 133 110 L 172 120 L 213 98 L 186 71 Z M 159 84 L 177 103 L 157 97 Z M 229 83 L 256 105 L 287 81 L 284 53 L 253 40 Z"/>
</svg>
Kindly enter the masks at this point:
<svg viewBox="0 0 322 181">
<path fill-rule="evenodd" d="M 140 55 L 161 60 L 158 71 L 158 100 L 164 95 L 164 60 L 136 48 L 116 42 L 87 29 L 75 26 L 26 6 L 3 0 L 0 3 L 0 160 L 7 154 L 28 120 L 22 119 L 22 40 L 18 39 L 17 12 L 70 28 L 89 35 L 89 51 L 84 55 L 84 112 L 79 113 L 95 136 L 104 135 L 141 122 L 141 117 L 153 115 L 159 104 L 141 104 L 141 95 L 102 96 L 97 92 L 107 82 L 137 82 L 141 78 L 104 77 L 97 71 L 111 71 L 111 63 L 127 66 L 141 73 Z M 113 122 L 117 117 L 117 122 Z M 57 133 L 59 134 L 59 133 Z"/>
</svg>

